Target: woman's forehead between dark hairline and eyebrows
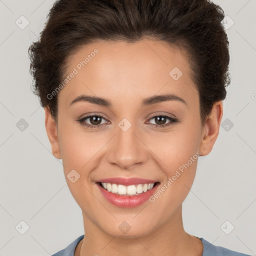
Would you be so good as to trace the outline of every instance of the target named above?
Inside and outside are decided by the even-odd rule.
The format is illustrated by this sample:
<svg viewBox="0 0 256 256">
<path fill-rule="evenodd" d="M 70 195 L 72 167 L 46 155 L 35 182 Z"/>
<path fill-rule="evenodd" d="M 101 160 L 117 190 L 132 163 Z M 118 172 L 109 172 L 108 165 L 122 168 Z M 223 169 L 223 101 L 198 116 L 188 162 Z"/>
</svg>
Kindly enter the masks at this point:
<svg viewBox="0 0 256 256">
<path fill-rule="evenodd" d="M 83 45 L 68 58 L 66 75 L 71 73 L 75 74 L 59 93 L 66 103 L 82 93 L 115 99 L 123 95 L 127 100 L 157 92 L 187 94 L 192 100 L 198 94 L 185 51 L 163 41 Z"/>
</svg>

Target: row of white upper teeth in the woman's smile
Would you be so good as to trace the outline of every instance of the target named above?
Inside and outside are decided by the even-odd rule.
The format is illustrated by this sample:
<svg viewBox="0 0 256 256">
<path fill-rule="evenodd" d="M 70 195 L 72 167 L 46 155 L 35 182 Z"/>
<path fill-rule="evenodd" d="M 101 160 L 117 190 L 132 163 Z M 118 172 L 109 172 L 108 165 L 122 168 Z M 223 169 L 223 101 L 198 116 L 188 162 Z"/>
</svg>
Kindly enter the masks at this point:
<svg viewBox="0 0 256 256">
<path fill-rule="evenodd" d="M 111 184 L 111 183 L 105 183 L 101 182 L 101 185 L 108 191 L 112 192 L 114 194 L 119 195 L 136 195 L 143 192 L 146 192 L 147 190 L 152 189 L 154 183 L 148 183 L 148 184 L 137 184 L 137 185 L 117 185 L 117 184 Z"/>
</svg>

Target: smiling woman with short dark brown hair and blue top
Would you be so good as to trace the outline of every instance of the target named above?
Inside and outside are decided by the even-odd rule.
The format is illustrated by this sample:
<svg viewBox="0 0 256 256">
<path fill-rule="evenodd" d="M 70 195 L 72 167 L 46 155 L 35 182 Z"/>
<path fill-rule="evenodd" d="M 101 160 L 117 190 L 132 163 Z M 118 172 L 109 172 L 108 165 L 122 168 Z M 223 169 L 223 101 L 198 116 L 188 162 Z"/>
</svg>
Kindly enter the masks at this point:
<svg viewBox="0 0 256 256">
<path fill-rule="evenodd" d="M 182 224 L 230 83 L 223 17 L 207 0 L 55 2 L 30 68 L 84 235 L 54 256 L 245 255 Z"/>
</svg>

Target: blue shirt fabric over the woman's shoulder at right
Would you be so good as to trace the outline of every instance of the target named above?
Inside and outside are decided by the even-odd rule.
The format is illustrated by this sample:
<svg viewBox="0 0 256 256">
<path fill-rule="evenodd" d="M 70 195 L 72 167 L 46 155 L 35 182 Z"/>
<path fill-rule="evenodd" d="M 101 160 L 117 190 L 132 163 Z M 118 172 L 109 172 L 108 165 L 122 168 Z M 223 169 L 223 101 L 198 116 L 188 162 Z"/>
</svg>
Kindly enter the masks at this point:
<svg viewBox="0 0 256 256">
<path fill-rule="evenodd" d="M 241 252 L 230 250 L 222 246 L 216 246 L 200 237 L 203 244 L 202 256 L 250 256 Z"/>
</svg>

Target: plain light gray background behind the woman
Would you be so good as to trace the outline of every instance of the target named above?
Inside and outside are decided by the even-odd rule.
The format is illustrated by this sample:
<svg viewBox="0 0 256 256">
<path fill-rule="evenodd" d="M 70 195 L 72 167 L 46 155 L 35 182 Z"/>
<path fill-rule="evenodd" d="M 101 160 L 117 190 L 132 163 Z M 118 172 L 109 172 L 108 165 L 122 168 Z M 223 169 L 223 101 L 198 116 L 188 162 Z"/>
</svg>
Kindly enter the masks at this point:
<svg viewBox="0 0 256 256">
<path fill-rule="evenodd" d="M 0 0 L 0 255 L 5 256 L 53 254 L 83 234 L 81 210 L 61 160 L 51 153 L 43 108 L 30 91 L 27 49 L 53 2 Z M 209 155 L 199 157 L 183 221 L 190 234 L 255 255 L 256 0 L 214 2 L 231 18 L 225 20 L 232 81 L 218 139 Z M 24 29 L 21 15 L 29 21 Z M 23 130 L 21 118 L 28 124 Z M 20 221 L 29 226 L 24 234 Z"/>
</svg>

